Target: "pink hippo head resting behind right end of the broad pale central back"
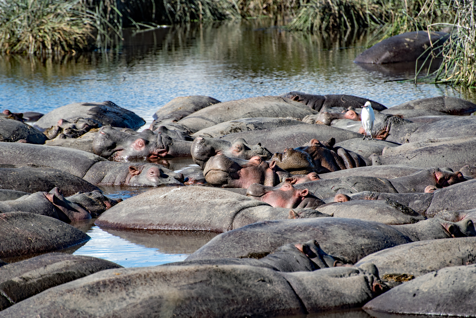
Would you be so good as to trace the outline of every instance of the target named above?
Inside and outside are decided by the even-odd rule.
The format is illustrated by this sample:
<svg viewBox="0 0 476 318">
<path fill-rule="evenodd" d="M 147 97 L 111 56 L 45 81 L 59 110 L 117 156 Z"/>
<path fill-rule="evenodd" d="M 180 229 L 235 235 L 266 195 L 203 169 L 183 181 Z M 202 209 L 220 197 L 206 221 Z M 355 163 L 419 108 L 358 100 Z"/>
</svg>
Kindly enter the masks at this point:
<svg viewBox="0 0 476 318">
<path fill-rule="evenodd" d="M 309 194 L 307 189 L 297 189 L 293 185 L 284 183 L 279 187 L 253 184 L 248 187 L 246 195 L 268 203 L 273 207 L 284 208 L 312 208 L 324 204 L 323 201 Z"/>
</svg>

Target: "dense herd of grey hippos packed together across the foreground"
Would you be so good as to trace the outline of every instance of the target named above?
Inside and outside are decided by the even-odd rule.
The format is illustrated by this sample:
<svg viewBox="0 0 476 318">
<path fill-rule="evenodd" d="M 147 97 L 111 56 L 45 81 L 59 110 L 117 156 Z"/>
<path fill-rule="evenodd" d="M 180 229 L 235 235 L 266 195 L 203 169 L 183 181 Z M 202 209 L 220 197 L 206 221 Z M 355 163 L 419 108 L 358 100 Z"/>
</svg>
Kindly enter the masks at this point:
<svg viewBox="0 0 476 318">
<path fill-rule="evenodd" d="M 453 97 L 387 108 L 303 92 L 178 97 L 141 132 L 109 101 L 6 110 L 0 318 L 476 317 L 475 115 Z M 160 164 L 173 157 L 190 165 Z M 91 218 L 221 234 L 182 262 L 123 268 L 69 254 L 90 239 L 70 223 Z"/>
</svg>

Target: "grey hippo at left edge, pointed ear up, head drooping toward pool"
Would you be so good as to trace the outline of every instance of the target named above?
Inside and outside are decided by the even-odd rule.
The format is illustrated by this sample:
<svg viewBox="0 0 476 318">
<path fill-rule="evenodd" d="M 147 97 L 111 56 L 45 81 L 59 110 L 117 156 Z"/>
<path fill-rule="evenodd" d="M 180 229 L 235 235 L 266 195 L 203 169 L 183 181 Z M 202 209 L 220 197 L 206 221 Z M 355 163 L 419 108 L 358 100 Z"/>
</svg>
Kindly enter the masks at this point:
<svg viewBox="0 0 476 318">
<path fill-rule="evenodd" d="M 68 223 L 91 218 L 88 210 L 70 202 L 58 188 L 53 188 L 50 192 L 24 195 L 16 200 L 1 201 L 0 212 L 29 212 L 47 215 Z"/>
</svg>

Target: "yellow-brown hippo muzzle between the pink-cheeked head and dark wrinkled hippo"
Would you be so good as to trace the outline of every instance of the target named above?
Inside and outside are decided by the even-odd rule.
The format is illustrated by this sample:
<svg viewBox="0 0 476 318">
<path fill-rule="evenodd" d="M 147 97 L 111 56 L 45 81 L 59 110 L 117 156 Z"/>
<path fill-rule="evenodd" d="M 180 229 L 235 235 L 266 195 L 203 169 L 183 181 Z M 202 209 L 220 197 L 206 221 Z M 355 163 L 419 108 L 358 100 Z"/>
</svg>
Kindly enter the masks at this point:
<svg viewBox="0 0 476 318">
<path fill-rule="evenodd" d="M 309 154 L 292 148 L 286 148 L 284 153 L 275 153 L 271 160 L 275 160 L 279 168 L 290 174 L 309 174 L 316 170 Z"/>
</svg>

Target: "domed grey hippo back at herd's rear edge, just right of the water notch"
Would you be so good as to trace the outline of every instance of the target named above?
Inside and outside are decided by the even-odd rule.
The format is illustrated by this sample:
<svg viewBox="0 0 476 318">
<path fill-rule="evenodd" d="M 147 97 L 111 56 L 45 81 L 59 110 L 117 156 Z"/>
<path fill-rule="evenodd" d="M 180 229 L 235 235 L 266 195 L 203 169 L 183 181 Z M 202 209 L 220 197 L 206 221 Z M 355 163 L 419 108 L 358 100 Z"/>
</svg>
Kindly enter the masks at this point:
<svg viewBox="0 0 476 318">
<path fill-rule="evenodd" d="M 157 112 L 152 115 L 154 121 L 150 124 L 150 130 L 154 131 L 161 125 L 175 123 L 191 113 L 195 113 L 202 108 L 216 103 L 221 102 L 208 96 L 196 95 L 176 97 L 169 103 L 160 107 Z"/>
</svg>

